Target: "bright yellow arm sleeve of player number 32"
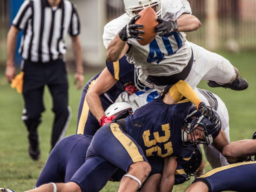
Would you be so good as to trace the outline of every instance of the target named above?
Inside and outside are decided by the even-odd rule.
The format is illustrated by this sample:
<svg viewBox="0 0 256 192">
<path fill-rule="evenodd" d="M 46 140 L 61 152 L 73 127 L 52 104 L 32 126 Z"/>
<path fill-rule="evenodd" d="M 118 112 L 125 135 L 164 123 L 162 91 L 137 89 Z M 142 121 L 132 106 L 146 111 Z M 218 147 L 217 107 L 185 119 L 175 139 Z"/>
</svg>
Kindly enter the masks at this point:
<svg viewBox="0 0 256 192">
<path fill-rule="evenodd" d="M 201 103 L 201 100 L 198 98 L 196 92 L 190 87 L 187 82 L 183 80 L 175 83 L 170 88 L 169 93 L 171 97 L 177 102 L 180 101 L 183 97 L 186 97 L 190 102 L 196 105 L 197 109 L 199 103 Z"/>
</svg>

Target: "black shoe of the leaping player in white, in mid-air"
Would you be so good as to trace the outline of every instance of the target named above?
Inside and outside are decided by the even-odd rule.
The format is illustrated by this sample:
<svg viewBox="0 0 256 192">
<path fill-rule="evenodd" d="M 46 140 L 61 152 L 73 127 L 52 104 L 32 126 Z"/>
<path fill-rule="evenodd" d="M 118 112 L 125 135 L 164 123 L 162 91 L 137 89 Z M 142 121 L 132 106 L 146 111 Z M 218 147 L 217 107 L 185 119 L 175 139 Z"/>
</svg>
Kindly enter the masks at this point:
<svg viewBox="0 0 256 192">
<path fill-rule="evenodd" d="M 227 84 L 219 84 L 216 81 L 207 81 L 207 84 L 209 87 L 224 87 L 225 89 L 229 88 L 235 91 L 242 91 L 244 89 L 247 89 L 249 86 L 248 82 L 242 77 L 238 77 L 234 81 Z"/>
</svg>

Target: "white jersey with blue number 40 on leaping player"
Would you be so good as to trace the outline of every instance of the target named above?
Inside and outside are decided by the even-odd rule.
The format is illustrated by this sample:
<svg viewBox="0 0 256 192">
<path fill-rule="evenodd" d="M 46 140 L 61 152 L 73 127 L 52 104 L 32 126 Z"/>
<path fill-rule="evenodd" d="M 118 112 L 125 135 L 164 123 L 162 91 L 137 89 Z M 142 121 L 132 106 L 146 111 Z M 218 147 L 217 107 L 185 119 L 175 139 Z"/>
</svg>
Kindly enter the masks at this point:
<svg viewBox="0 0 256 192">
<path fill-rule="evenodd" d="M 191 8 L 186 0 L 162 0 L 163 19 L 173 20 L 182 14 L 191 14 Z M 107 48 L 111 40 L 119 31 L 130 22 L 125 13 L 112 20 L 104 27 L 103 42 Z M 139 79 L 146 80 L 148 75 L 170 76 L 181 72 L 187 66 L 191 58 L 191 48 L 183 32 L 173 32 L 164 37 L 157 35 L 155 39 L 146 46 L 138 44 L 136 39 L 128 39 L 132 45 L 127 60 L 140 68 Z"/>
</svg>

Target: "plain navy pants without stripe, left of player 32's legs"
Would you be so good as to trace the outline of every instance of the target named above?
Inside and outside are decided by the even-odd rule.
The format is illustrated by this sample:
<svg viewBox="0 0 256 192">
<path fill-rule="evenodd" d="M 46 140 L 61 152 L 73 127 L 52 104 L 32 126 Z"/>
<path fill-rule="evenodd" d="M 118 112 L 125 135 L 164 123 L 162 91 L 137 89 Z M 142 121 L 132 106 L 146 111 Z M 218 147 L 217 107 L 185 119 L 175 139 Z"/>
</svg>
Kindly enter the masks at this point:
<svg viewBox="0 0 256 192">
<path fill-rule="evenodd" d="M 36 182 L 36 187 L 54 182 L 66 183 L 83 165 L 91 138 L 85 135 L 70 135 L 63 138 L 51 151 Z"/>
</svg>

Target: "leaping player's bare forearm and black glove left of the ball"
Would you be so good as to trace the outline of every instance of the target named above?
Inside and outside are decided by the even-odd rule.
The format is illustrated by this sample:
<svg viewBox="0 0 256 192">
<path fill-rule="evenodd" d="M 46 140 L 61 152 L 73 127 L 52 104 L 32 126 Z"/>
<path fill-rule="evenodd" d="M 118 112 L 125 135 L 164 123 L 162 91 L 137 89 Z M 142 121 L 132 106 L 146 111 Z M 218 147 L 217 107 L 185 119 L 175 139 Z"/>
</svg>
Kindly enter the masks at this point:
<svg viewBox="0 0 256 192">
<path fill-rule="evenodd" d="M 142 40 L 139 34 L 144 34 L 142 30 L 135 30 L 143 28 L 141 24 L 135 24 L 135 21 L 140 17 L 136 15 L 132 18 L 129 24 L 125 25 L 121 31 L 115 36 L 115 38 L 110 42 L 107 50 L 107 60 L 109 62 L 116 62 L 128 51 L 129 46 L 127 40 L 129 38 L 135 38 Z"/>
</svg>

